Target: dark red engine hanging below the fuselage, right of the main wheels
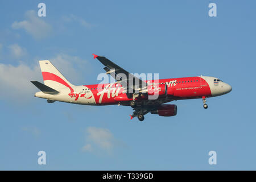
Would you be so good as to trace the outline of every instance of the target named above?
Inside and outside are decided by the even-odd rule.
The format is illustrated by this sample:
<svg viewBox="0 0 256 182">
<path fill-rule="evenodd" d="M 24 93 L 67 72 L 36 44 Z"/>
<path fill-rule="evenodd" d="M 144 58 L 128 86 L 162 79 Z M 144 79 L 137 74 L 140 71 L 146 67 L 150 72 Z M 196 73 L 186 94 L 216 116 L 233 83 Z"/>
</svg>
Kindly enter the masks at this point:
<svg viewBox="0 0 256 182">
<path fill-rule="evenodd" d="M 152 110 L 151 114 L 160 116 L 174 116 L 177 114 L 177 106 L 175 104 L 162 104 L 157 109 Z"/>
</svg>

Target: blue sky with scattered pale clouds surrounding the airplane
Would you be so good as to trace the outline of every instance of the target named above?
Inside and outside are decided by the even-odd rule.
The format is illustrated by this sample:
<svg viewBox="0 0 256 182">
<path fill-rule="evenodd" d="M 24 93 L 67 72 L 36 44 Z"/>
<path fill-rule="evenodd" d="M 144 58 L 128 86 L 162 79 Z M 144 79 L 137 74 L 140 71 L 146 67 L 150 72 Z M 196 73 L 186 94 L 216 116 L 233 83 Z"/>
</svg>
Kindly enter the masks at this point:
<svg viewBox="0 0 256 182">
<path fill-rule="evenodd" d="M 46 17 L 37 16 L 46 3 Z M 217 17 L 208 5 L 217 5 Z M 255 1 L 1 1 L 0 169 L 254 169 Z M 130 120 L 130 107 L 47 104 L 29 82 L 51 60 L 96 84 L 108 57 L 131 73 L 214 76 L 224 96 L 176 101 L 175 117 Z M 38 165 L 38 151 L 47 164 Z M 217 152 L 217 165 L 208 152 Z"/>
</svg>

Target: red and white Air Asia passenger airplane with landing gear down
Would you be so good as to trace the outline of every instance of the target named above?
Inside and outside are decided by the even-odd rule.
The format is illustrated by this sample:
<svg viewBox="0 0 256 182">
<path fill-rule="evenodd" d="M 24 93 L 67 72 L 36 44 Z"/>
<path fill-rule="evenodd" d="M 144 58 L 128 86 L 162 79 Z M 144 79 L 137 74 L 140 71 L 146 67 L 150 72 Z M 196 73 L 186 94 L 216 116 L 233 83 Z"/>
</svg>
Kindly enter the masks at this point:
<svg viewBox="0 0 256 182">
<path fill-rule="evenodd" d="M 131 119 L 138 117 L 139 121 L 143 121 L 147 113 L 175 116 L 177 106 L 165 104 L 167 102 L 201 98 L 204 109 L 207 109 L 207 98 L 221 96 L 232 90 L 232 86 L 219 78 L 202 75 L 141 80 L 104 56 L 93 54 L 93 58 L 105 66 L 106 74 L 112 76 L 115 82 L 75 86 L 49 60 L 40 60 L 44 84 L 31 81 L 40 90 L 35 93 L 35 97 L 47 99 L 48 103 L 61 101 L 81 105 L 131 106 Z"/>
</svg>

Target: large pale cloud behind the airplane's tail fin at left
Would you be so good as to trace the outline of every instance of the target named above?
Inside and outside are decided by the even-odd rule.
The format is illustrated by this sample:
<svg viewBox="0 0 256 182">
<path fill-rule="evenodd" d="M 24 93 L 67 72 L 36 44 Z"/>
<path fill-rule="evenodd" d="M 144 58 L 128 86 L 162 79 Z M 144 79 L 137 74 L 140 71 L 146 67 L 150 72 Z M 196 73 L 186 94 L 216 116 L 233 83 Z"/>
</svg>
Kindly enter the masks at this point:
<svg viewBox="0 0 256 182">
<path fill-rule="evenodd" d="M 43 60 L 43 59 L 41 59 Z M 85 60 L 77 56 L 59 54 L 50 59 L 59 71 L 72 83 L 79 82 L 80 73 L 86 71 Z M 13 99 L 23 102 L 34 99 L 34 93 L 39 90 L 30 81 L 43 82 L 42 73 L 37 60 L 33 65 L 20 62 L 18 65 L 0 63 L 0 100 Z M 81 82 L 79 82 L 81 84 Z M 77 85 L 79 85 L 77 84 Z M 76 83 L 74 84 L 76 85 Z"/>
</svg>

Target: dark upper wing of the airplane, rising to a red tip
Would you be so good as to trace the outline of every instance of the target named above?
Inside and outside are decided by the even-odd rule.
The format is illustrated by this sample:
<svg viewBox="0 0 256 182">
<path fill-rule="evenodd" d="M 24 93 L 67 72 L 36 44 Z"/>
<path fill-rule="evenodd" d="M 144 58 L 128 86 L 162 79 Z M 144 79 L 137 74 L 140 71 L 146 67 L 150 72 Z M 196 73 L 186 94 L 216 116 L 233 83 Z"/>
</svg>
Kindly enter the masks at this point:
<svg viewBox="0 0 256 182">
<path fill-rule="evenodd" d="M 102 64 L 105 65 L 104 70 L 106 71 L 106 74 L 110 74 L 117 82 L 119 82 L 123 86 L 127 86 L 127 89 L 131 88 L 138 91 L 147 86 L 146 82 L 142 81 L 138 77 L 135 77 L 133 74 L 127 72 L 125 69 L 119 67 L 117 64 L 113 63 L 109 59 L 106 59 L 106 57 L 97 56 L 94 54 L 93 56 L 94 59 L 97 58 Z"/>
</svg>

